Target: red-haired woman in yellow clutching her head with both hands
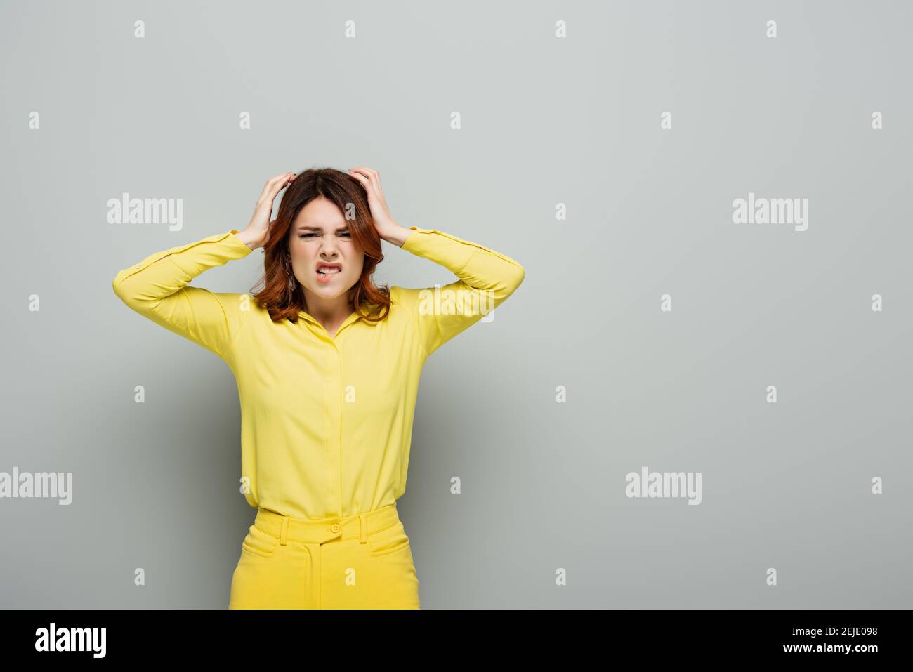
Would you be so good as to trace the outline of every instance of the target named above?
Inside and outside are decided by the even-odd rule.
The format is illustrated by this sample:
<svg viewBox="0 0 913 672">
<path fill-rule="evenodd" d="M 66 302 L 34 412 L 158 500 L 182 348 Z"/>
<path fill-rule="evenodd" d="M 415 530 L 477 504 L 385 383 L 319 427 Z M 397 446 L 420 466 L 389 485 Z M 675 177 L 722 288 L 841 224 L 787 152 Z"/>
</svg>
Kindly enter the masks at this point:
<svg viewBox="0 0 913 672">
<path fill-rule="evenodd" d="M 282 196 L 270 221 L 273 202 Z M 456 274 L 444 288 L 377 288 L 381 238 Z M 264 289 L 213 293 L 206 268 L 266 255 Z M 425 359 L 523 281 L 515 260 L 394 222 L 370 168 L 269 180 L 244 231 L 124 268 L 114 291 L 224 359 L 241 402 L 241 491 L 257 509 L 229 608 L 419 608 L 396 500 L 405 492 Z"/>
</svg>

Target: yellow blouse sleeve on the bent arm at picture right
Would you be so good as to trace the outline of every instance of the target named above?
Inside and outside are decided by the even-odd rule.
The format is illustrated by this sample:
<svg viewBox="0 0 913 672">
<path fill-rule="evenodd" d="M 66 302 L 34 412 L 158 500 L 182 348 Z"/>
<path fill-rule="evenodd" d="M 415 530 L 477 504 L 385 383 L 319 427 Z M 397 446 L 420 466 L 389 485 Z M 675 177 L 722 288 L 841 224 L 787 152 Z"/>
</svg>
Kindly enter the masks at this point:
<svg viewBox="0 0 913 672">
<path fill-rule="evenodd" d="M 526 271 L 516 260 L 488 247 L 436 229 L 410 228 L 415 233 L 409 234 L 402 248 L 458 278 L 440 289 L 400 288 L 404 305 L 415 315 L 425 355 L 430 355 L 508 299 Z"/>
</svg>

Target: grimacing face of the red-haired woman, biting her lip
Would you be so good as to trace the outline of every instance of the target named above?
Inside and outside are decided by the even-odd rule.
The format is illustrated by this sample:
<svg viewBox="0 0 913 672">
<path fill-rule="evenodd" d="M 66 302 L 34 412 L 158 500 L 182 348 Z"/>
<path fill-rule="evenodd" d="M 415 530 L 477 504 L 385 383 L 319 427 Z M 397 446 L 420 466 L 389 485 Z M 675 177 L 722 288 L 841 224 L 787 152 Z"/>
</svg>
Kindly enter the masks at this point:
<svg viewBox="0 0 913 672">
<path fill-rule="evenodd" d="M 295 218 L 289 233 L 289 255 L 295 278 L 319 299 L 345 295 L 362 277 L 364 252 L 355 248 L 349 222 L 341 210 L 322 196 L 301 208 Z M 333 268 L 320 273 L 318 269 L 325 264 Z"/>
</svg>

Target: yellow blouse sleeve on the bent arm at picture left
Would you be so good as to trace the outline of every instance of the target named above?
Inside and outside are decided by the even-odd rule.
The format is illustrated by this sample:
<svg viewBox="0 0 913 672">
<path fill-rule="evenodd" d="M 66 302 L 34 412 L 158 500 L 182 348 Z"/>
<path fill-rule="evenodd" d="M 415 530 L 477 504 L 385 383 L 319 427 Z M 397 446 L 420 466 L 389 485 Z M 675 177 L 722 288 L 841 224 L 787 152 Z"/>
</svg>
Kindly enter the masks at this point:
<svg viewBox="0 0 913 672">
<path fill-rule="evenodd" d="M 112 283 L 114 293 L 131 310 L 226 359 L 248 313 L 248 304 L 241 305 L 246 295 L 217 294 L 187 284 L 207 268 L 253 251 L 236 233 L 232 229 L 156 252 L 121 270 Z"/>
</svg>

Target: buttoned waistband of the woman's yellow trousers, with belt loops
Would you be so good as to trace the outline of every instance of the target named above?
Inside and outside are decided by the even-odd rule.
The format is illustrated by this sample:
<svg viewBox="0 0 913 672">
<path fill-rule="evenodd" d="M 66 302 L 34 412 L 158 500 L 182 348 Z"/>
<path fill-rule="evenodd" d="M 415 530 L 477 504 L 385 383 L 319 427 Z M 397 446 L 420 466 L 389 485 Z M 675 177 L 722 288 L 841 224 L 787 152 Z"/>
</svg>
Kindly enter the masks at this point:
<svg viewBox="0 0 913 672">
<path fill-rule="evenodd" d="M 369 534 L 386 530 L 397 522 L 399 512 L 394 502 L 352 516 L 321 519 L 293 518 L 270 509 L 257 509 L 254 525 L 277 537 L 279 543 L 285 545 L 288 541 L 323 543 L 333 539 L 359 539 L 366 543 Z"/>
</svg>

